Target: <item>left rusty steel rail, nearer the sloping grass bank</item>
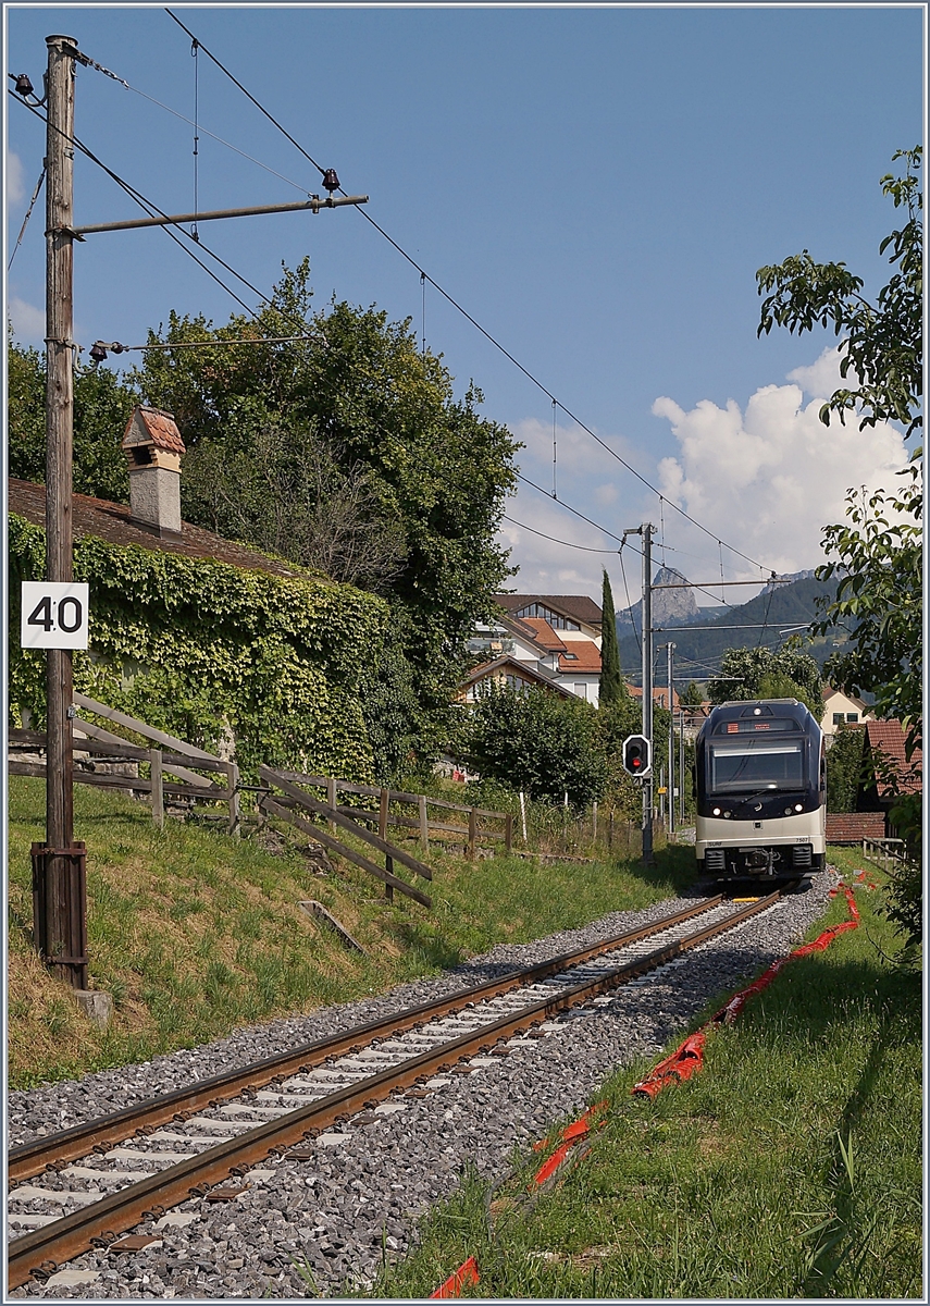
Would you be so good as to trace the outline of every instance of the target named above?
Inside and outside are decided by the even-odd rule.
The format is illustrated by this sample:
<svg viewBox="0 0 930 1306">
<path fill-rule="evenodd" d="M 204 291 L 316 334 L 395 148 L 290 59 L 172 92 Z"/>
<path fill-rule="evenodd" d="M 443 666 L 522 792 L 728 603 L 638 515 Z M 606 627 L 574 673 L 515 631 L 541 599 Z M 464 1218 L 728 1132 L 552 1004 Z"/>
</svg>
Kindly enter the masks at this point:
<svg viewBox="0 0 930 1306">
<path fill-rule="evenodd" d="M 89 1152 L 102 1148 L 106 1144 L 120 1143 L 140 1130 L 157 1128 L 166 1124 L 182 1111 L 197 1111 L 204 1106 L 212 1106 L 238 1097 L 249 1089 L 264 1088 L 273 1079 L 286 1077 L 320 1066 L 328 1057 L 338 1057 L 347 1051 L 358 1051 L 361 1046 L 375 1040 L 388 1038 L 392 1034 L 404 1033 L 413 1025 L 426 1020 L 438 1020 L 452 1012 L 461 1011 L 469 1003 L 486 1002 L 503 993 L 521 989 L 526 985 L 537 983 L 549 976 L 566 970 L 568 966 L 580 965 L 592 957 L 617 948 L 628 947 L 640 939 L 647 939 L 652 934 L 681 925 L 694 916 L 709 912 L 724 901 L 724 895 L 718 893 L 712 899 L 703 899 L 699 904 L 674 912 L 649 925 L 626 934 L 614 935 L 611 939 L 602 939 L 586 948 L 575 952 L 563 952 L 558 957 L 537 963 L 513 970 L 499 980 L 489 980 L 486 983 L 473 985 L 469 989 L 460 989 L 455 994 L 440 998 L 438 1002 L 421 1003 L 409 1007 L 400 1015 L 384 1016 L 380 1020 L 367 1021 L 362 1025 L 353 1025 L 340 1034 L 329 1034 L 310 1043 L 302 1043 L 286 1053 L 277 1053 L 249 1066 L 223 1071 L 209 1079 L 199 1080 L 189 1088 L 174 1089 L 161 1097 L 146 1098 L 133 1106 L 127 1106 L 121 1111 L 98 1117 L 73 1128 L 63 1130 L 47 1138 L 34 1139 L 20 1147 L 10 1148 L 7 1157 L 8 1182 L 18 1183 L 31 1179 L 48 1166 L 57 1168 L 88 1156 Z"/>
</svg>

